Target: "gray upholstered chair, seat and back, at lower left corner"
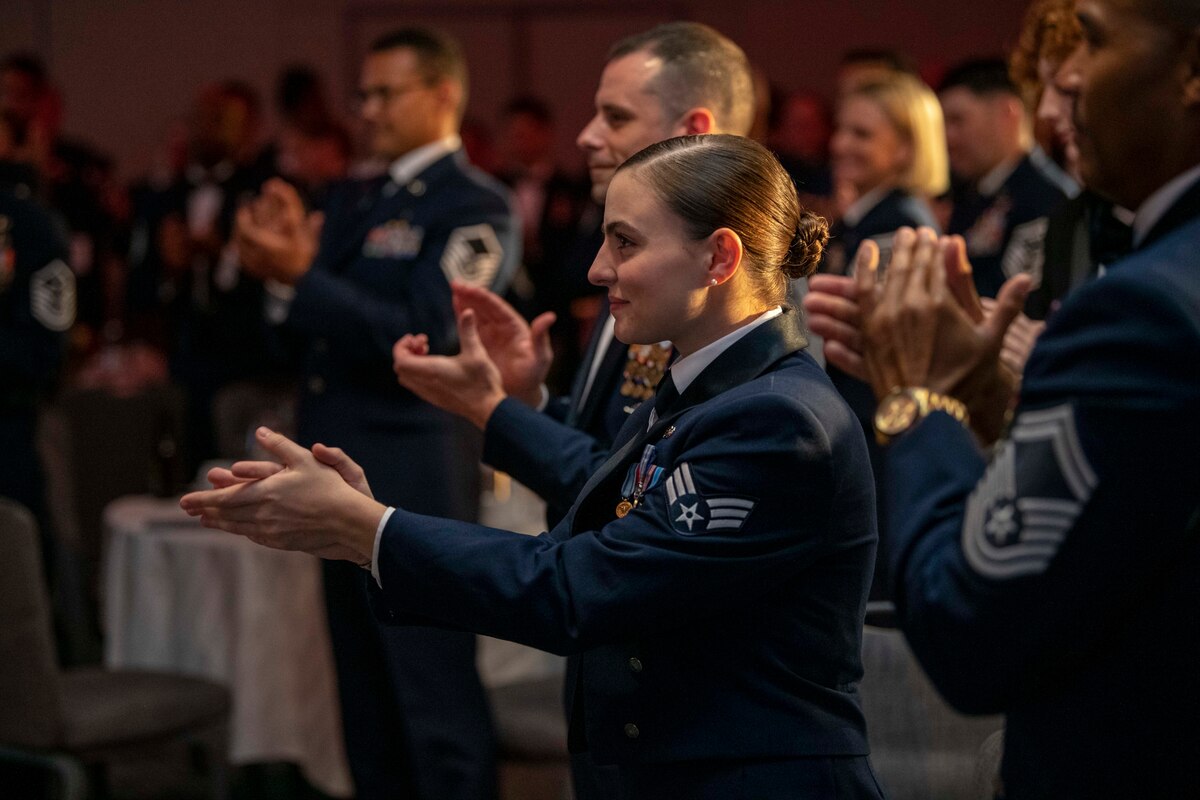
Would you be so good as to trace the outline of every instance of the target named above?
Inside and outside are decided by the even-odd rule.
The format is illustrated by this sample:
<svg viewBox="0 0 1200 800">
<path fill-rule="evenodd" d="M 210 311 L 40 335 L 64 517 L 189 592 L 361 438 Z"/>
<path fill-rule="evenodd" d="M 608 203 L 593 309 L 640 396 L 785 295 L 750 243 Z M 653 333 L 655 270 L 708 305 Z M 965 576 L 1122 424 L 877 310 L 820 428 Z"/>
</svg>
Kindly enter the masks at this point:
<svg viewBox="0 0 1200 800">
<path fill-rule="evenodd" d="M 228 691 L 181 675 L 60 669 L 38 548 L 29 511 L 0 498 L 0 748 L 10 759 L 67 757 L 102 784 L 107 764 L 181 741 L 203 754 L 212 798 L 226 798 Z"/>
</svg>

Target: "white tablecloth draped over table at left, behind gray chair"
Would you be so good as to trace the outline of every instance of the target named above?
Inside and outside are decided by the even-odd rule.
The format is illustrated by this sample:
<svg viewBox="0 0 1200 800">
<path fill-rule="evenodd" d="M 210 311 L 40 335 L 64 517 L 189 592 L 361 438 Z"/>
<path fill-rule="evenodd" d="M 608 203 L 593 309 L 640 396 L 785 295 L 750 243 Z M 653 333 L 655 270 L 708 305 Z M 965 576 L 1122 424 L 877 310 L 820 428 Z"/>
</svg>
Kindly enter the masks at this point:
<svg viewBox="0 0 1200 800">
<path fill-rule="evenodd" d="M 228 685 L 232 763 L 295 763 L 350 795 L 317 559 L 206 530 L 175 500 L 122 498 L 104 523 L 106 663 Z"/>
</svg>

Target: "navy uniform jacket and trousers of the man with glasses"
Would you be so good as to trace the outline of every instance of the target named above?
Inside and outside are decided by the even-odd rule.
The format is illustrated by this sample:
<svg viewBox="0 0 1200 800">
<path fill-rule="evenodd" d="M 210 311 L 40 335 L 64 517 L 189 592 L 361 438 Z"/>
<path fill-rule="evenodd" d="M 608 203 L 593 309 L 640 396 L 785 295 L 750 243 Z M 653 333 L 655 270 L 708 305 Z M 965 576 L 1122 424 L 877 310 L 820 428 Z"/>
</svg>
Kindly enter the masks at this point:
<svg viewBox="0 0 1200 800">
<path fill-rule="evenodd" d="M 479 435 L 396 383 L 391 348 L 424 332 L 456 347 L 448 276 L 503 290 L 518 228 L 498 184 L 461 154 L 407 184 L 350 184 L 330 198 L 320 248 L 288 323 L 304 335 L 299 438 L 336 443 L 389 504 L 474 519 Z M 499 258 L 499 261 L 496 259 Z M 347 753 L 362 799 L 496 796 L 474 637 L 383 630 L 348 563 L 325 563 Z"/>
</svg>

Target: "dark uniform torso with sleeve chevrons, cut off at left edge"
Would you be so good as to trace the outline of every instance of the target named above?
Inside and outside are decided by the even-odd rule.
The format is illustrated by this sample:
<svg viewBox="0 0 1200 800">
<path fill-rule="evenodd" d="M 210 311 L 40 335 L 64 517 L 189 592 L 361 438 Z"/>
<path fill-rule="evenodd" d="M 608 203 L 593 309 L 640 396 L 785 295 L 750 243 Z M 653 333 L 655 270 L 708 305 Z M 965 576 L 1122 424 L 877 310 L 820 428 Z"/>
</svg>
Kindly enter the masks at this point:
<svg viewBox="0 0 1200 800">
<path fill-rule="evenodd" d="M 49 215 L 0 190 L 0 495 L 37 517 L 47 566 L 42 468 L 35 450 L 37 407 L 62 366 L 76 317 L 74 273 Z"/>
</svg>

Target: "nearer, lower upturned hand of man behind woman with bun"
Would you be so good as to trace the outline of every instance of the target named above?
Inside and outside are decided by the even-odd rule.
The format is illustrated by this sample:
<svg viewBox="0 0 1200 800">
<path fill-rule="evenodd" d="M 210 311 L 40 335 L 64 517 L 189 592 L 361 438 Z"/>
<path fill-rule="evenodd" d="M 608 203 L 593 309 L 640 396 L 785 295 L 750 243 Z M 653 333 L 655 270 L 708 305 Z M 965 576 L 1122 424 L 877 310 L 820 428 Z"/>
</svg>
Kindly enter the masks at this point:
<svg viewBox="0 0 1200 800">
<path fill-rule="evenodd" d="M 480 341 L 470 308 L 458 314 L 458 355 L 430 355 L 426 336 L 409 333 L 391 349 L 392 368 L 410 392 L 484 429 L 508 395 L 499 367 Z"/>
</svg>

